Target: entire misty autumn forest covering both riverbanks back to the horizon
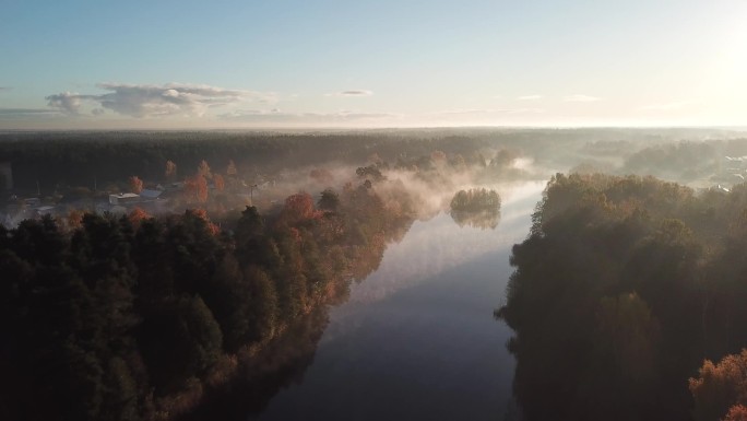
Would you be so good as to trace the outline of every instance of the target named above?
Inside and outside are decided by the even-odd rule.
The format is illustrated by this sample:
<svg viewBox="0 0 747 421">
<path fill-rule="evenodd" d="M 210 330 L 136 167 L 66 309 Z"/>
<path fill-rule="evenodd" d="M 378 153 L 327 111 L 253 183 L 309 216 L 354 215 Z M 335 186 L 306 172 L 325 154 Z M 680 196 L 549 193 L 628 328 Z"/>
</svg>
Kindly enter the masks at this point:
<svg viewBox="0 0 747 421">
<path fill-rule="evenodd" d="M 745 156 L 706 129 L 0 133 L 8 212 L 61 209 L 0 224 L 0 418 L 257 412 L 415 221 L 496 230 L 490 186 L 549 178 L 495 313 L 523 417 L 739 419 Z M 158 212 L 75 208 L 156 185 Z"/>
</svg>

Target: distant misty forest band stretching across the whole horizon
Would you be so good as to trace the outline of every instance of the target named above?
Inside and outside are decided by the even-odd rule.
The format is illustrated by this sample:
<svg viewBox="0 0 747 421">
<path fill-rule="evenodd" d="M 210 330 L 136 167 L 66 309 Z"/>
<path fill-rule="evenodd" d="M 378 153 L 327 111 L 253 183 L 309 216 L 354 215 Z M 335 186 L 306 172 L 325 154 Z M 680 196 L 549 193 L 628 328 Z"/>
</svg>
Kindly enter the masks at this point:
<svg viewBox="0 0 747 421">
<path fill-rule="evenodd" d="M 707 172 L 718 168 L 723 154 L 747 155 L 747 142 L 708 129 L 0 132 L 0 163 L 11 163 L 15 189 L 36 191 L 38 183 L 45 195 L 66 186 L 124 189 L 123 180 L 132 175 L 161 180 L 167 162 L 178 165 L 174 176 L 183 179 L 203 160 L 215 168 L 235 161 L 239 176 L 249 182 L 287 168 L 358 165 L 372 154 L 392 167 L 427 165 L 418 160 L 437 150 L 467 164 L 503 168 L 502 177 L 522 175 L 502 164 L 524 156 L 542 169 L 542 177 L 553 174 L 547 169 L 581 163 L 605 172 L 692 178 L 710 176 Z"/>
</svg>

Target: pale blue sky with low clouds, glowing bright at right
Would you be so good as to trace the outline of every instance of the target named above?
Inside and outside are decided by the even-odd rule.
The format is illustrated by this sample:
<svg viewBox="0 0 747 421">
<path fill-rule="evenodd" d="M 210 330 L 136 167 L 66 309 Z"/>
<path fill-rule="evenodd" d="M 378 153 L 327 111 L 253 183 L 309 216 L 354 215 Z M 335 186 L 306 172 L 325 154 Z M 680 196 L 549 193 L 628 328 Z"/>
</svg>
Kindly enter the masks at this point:
<svg viewBox="0 0 747 421">
<path fill-rule="evenodd" d="M 747 126 L 747 2 L 0 0 L 0 130 Z"/>
</svg>

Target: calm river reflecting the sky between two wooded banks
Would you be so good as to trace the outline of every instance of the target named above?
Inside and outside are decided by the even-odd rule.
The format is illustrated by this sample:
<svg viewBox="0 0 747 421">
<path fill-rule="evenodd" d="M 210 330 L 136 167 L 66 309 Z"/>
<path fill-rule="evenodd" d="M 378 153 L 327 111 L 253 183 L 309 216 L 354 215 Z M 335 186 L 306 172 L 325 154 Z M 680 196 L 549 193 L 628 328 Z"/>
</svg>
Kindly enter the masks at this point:
<svg viewBox="0 0 747 421">
<path fill-rule="evenodd" d="M 251 419 L 502 419 L 514 361 L 493 311 L 543 187 L 499 188 L 495 230 L 459 227 L 448 214 L 415 222 L 330 313 L 303 377 Z"/>
</svg>

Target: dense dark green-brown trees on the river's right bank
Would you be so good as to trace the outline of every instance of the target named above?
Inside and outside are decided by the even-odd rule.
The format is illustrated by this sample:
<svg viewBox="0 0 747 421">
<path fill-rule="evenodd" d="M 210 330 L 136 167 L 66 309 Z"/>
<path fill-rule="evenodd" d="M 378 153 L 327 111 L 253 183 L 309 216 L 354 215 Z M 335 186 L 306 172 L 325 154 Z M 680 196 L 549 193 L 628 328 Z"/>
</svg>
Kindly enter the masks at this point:
<svg viewBox="0 0 747 421">
<path fill-rule="evenodd" d="M 737 404 L 693 401 L 688 378 L 747 347 L 747 185 L 558 174 L 511 264 L 496 315 L 526 420 L 716 420 Z"/>
</svg>

